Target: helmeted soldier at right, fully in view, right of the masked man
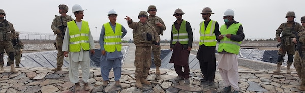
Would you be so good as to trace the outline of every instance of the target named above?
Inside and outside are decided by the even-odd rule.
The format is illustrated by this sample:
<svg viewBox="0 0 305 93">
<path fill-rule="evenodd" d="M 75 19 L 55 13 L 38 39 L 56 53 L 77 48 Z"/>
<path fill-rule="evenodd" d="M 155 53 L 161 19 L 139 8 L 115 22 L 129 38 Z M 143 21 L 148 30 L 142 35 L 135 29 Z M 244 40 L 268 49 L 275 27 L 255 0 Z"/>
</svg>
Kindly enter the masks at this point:
<svg viewBox="0 0 305 93">
<path fill-rule="evenodd" d="M 277 62 L 277 69 L 273 72 L 279 73 L 281 72 L 281 65 L 283 63 L 283 57 L 287 52 L 288 61 L 287 61 L 287 71 L 286 73 L 290 72 L 290 66 L 293 62 L 293 55 L 294 55 L 294 46 L 295 44 L 292 42 L 292 39 L 295 37 L 294 33 L 299 31 L 302 26 L 294 22 L 295 13 L 293 11 L 288 11 L 286 14 L 287 22 L 282 23 L 279 28 L 276 30 L 276 38 L 278 42 L 281 42 L 281 48 L 278 51 L 278 62 Z M 280 37 L 280 34 L 282 36 Z"/>
</svg>

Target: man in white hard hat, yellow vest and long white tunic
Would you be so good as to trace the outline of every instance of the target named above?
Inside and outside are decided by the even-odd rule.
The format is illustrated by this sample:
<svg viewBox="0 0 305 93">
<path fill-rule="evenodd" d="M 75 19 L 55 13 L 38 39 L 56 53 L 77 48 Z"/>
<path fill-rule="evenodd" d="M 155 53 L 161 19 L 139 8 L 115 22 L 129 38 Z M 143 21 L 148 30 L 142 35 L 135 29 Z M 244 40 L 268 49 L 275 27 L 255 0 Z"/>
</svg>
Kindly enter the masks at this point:
<svg viewBox="0 0 305 93">
<path fill-rule="evenodd" d="M 74 91 L 80 90 L 78 68 L 81 66 L 84 90 L 90 90 L 90 53 L 94 54 L 94 41 L 90 32 L 89 23 L 82 20 L 84 10 L 78 4 L 72 7 L 75 20 L 67 23 L 66 33 L 63 40 L 64 56 L 69 60 L 69 79 L 75 83 Z"/>
</svg>

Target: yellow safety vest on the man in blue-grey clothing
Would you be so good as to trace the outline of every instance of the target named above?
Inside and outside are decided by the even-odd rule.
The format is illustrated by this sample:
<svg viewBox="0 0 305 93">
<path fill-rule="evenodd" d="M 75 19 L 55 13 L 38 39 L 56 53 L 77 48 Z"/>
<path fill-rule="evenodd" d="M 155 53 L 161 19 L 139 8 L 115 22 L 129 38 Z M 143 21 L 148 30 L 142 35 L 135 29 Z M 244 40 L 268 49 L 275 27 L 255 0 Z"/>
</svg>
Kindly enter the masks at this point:
<svg viewBox="0 0 305 93">
<path fill-rule="evenodd" d="M 115 31 L 110 26 L 110 23 L 104 24 L 105 35 L 104 35 L 104 48 L 106 52 L 114 52 L 122 50 L 122 25 L 116 23 Z"/>
</svg>

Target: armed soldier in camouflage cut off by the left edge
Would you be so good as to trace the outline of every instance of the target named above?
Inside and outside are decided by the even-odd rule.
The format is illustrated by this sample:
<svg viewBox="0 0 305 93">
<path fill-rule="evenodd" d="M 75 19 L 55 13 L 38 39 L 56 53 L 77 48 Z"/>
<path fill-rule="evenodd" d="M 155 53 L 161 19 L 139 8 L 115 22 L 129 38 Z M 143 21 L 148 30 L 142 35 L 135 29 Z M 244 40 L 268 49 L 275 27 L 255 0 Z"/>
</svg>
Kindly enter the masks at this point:
<svg viewBox="0 0 305 93">
<path fill-rule="evenodd" d="M 16 33 L 13 24 L 7 21 L 3 9 L 0 9 L 0 73 L 4 72 L 3 53 L 4 50 L 8 53 L 10 61 L 7 64 L 11 66 L 11 72 L 18 73 L 14 65 L 14 48 L 13 45 L 17 44 Z M 11 42 L 13 40 L 13 43 Z M 13 44 L 13 45 L 12 45 Z"/>
</svg>

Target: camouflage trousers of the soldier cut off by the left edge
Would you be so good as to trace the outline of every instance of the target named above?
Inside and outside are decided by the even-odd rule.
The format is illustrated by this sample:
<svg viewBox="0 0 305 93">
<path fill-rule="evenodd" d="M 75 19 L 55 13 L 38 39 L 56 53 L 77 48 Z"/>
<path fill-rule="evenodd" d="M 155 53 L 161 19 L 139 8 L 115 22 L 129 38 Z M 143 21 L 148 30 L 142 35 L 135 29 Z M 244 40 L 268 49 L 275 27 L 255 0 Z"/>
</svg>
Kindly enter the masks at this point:
<svg viewBox="0 0 305 93">
<path fill-rule="evenodd" d="M 12 42 L 11 41 L 7 41 L 7 40 L 4 40 L 4 41 L 0 41 L 0 53 L 3 55 L 4 53 L 4 50 L 5 52 L 8 54 L 8 56 L 10 57 L 10 53 L 14 52 L 15 49 L 13 48 L 13 45 L 12 45 Z M 8 57 L 8 59 L 10 59 Z M 3 58 L 2 58 L 3 59 Z M 0 65 L 3 65 L 3 60 L 1 62 Z M 9 60 L 7 64 L 14 64 L 14 60 Z"/>
</svg>

